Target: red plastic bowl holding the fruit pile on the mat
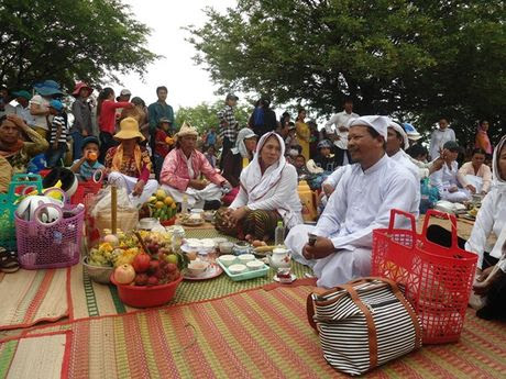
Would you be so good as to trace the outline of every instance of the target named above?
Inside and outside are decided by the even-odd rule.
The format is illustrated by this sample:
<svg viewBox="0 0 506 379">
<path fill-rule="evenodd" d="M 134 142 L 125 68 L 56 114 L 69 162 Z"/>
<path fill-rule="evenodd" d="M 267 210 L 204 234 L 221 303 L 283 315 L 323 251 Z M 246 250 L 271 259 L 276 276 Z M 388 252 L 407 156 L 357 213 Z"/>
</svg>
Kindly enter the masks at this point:
<svg viewBox="0 0 506 379">
<path fill-rule="evenodd" d="M 179 286 L 182 280 L 183 275 L 166 285 L 141 287 L 120 285 L 114 280 L 114 276 L 111 275 L 111 282 L 118 288 L 120 300 L 127 305 L 134 308 L 160 306 L 167 303 L 172 300 L 172 298 L 174 298 L 174 294 L 176 294 L 177 286 Z"/>
</svg>

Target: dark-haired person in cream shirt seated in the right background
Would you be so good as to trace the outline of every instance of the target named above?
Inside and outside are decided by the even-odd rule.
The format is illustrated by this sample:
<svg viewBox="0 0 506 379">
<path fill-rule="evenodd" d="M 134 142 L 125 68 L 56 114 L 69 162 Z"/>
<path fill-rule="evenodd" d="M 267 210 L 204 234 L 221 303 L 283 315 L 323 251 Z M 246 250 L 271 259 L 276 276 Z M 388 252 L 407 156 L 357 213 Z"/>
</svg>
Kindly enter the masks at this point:
<svg viewBox="0 0 506 379">
<path fill-rule="evenodd" d="M 461 186 L 471 193 L 485 194 L 491 188 L 492 171 L 485 165 L 485 152 L 481 148 L 473 151 L 471 161 L 466 161 L 459 170 L 458 179 Z"/>
</svg>

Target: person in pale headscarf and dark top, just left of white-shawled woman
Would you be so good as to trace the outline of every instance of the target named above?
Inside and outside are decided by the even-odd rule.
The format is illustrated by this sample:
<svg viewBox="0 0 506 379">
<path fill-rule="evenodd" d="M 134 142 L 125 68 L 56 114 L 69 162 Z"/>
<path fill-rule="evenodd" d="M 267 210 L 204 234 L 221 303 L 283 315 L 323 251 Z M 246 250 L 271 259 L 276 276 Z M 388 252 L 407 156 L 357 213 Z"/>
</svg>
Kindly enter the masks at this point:
<svg viewBox="0 0 506 379">
<path fill-rule="evenodd" d="M 239 179 L 243 168 L 253 159 L 256 148 L 257 135 L 249 127 L 241 129 L 235 141 L 235 147 L 223 157 L 223 178 L 226 178 L 232 190 L 223 198 L 226 204 L 230 204 L 239 193 Z"/>
</svg>

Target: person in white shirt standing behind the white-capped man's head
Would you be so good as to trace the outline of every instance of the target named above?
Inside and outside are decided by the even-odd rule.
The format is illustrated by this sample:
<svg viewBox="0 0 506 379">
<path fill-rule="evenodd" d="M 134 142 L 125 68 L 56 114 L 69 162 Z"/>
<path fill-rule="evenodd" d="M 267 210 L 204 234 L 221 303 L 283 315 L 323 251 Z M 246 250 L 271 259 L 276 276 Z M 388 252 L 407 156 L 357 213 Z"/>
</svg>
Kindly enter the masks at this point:
<svg viewBox="0 0 506 379">
<path fill-rule="evenodd" d="M 336 160 L 338 166 L 350 163 L 350 153 L 348 152 L 348 123 L 350 120 L 358 119 L 359 114 L 353 113 L 353 100 L 344 100 L 344 110 L 336 113 L 324 124 L 327 137 L 333 141 L 336 151 Z"/>
</svg>

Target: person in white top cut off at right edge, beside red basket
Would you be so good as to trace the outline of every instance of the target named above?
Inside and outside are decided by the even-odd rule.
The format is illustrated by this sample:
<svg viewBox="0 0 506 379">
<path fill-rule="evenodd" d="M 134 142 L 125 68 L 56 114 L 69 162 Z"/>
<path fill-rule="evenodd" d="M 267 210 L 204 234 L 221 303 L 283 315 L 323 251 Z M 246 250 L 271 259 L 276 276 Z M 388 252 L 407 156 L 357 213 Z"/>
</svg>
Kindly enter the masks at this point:
<svg viewBox="0 0 506 379">
<path fill-rule="evenodd" d="M 471 236 L 468 242 L 459 238 L 459 246 L 461 248 L 465 247 L 466 250 L 476 253 L 479 256 L 475 293 L 487 294 L 487 298 L 485 306 L 479 310 L 476 315 L 483 319 L 505 319 L 505 276 L 503 275 L 503 279 L 499 280 L 485 281 L 484 279 L 491 275 L 490 267 L 492 266 L 498 265 L 498 268 L 506 270 L 506 264 L 504 263 L 504 243 L 506 241 L 506 136 L 501 140 L 494 151 L 492 172 L 493 185 L 491 191 L 483 199 Z M 492 248 L 487 248 L 487 239 L 492 233 L 497 236 L 497 242 Z M 439 245 L 451 246 L 450 232 L 439 225 L 430 225 L 427 237 Z M 491 253 L 486 253 L 486 249 Z M 503 261 L 499 261 L 499 259 Z M 496 279 L 496 277 L 491 279 Z M 492 283 L 491 281 L 495 282 Z"/>
</svg>

